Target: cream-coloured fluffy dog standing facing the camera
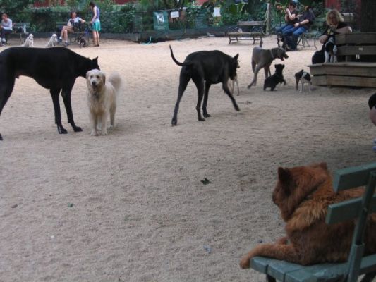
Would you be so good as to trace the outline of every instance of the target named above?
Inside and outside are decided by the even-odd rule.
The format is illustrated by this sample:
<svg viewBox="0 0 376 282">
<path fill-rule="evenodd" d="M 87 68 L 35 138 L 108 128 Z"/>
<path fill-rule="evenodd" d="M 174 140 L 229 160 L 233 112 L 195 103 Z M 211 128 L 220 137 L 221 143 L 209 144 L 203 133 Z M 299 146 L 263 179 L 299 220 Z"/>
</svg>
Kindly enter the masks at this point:
<svg viewBox="0 0 376 282">
<path fill-rule="evenodd" d="M 113 73 L 106 80 L 106 75 L 99 70 L 86 73 L 87 104 L 89 106 L 91 135 L 107 135 L 107 118 L 110 117 L 111 128 L 115 128 L 116 99 L 119 96 L 121 78 Z"/>
</svg>

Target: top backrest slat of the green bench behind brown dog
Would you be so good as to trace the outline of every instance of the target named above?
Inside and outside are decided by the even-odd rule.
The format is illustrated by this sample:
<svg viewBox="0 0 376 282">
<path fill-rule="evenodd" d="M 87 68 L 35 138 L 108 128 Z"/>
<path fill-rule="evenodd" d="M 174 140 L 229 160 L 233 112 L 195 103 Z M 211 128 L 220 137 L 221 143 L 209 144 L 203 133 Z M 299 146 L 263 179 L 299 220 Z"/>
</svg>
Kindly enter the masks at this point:
<svg viewBox="0 0 376 282">
<path fill-rule="evenodd" d="M 333 181 L 334 191 L 339 192 L 366 185 L 371 171 L 376 171 L 376 163 L 353 166 L 336 171 Z"/>
</svg>

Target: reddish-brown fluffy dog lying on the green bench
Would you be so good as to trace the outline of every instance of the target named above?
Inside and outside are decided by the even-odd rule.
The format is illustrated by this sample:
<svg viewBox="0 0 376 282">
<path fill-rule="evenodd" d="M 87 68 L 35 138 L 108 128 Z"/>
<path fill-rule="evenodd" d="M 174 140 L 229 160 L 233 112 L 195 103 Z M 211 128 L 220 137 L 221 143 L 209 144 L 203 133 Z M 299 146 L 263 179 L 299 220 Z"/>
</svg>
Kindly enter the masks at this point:
<svg viewBox="0 0 376 282">
<path fill-rule="evenodd" d="M 273 202 L 286 222 L 286 237 L 274 244 L 258 245 L 241 259 L 241 268 L 256 256 L 297 264 L 345 262 L 351 247 L 354 221 L 327 225 L 329 204 L 360 197 L 362 188 L 334 192 L 327 165 L 313 164 L 278 168 Z M 376 214 L 370 215 L 365 231 L 365 255 L 376 252 Z"/>
</svg>

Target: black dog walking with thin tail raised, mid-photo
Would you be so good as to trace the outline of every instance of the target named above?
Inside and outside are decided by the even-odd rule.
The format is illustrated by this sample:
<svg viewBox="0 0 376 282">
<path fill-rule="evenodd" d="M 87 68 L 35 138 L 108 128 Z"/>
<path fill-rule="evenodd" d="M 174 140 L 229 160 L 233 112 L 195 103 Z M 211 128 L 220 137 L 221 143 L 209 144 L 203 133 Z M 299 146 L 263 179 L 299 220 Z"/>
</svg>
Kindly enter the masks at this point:
<svg viewBox="0 0 376 282">
<path fill-rule="evenodd" d="M 175 104 L 174 117 L 172 118 L 171 124 L 178 124 L 178 109 L 181 97 L 186 90 L 188 82 L 190 79 L 195 83 L 198 90 L 198 102 L 196 106 L 198 121 L 205 121 L 201 116 L 201 101 L 204 97 L 204 102 L 202 104 L 202 112 L 205 118 L 210 117 L 210 114 L 207 114 L 207 96 L 209 94 L 209 88 L 212 84 L 217 84 L 222 82 L 222 88 L 224 92 L 230 97 L 232 104 L 236 111 L 240 111 L 238 104 L 234 97 L 232 96 L 228 81 L 229 79 L 234 80 L 236 78 L 236 68 L 238 68 L 238 56 L 231 57 L 222 53 L 221 51 L 198 51 L 191 53 L 186 57 L 183 63 L 178 62 L 174 53 L 172 52 L 171 46 L 171 57 L 178 66 L 182 66 L 179 79 L 179 90 L 178 90 L 178 100 Z M 205 91 L 205 95 L 204 95 Z"/>
</svg>

